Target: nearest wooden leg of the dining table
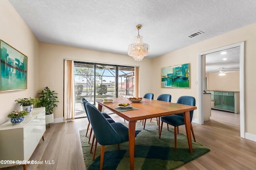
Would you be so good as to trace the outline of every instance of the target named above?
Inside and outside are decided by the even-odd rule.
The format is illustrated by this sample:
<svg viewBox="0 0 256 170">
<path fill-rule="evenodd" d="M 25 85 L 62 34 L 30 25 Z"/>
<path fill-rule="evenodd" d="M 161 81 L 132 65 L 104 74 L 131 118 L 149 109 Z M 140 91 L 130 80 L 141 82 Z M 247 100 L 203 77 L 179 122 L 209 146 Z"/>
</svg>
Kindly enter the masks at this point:
<svg viewBox="0 0 256 170">
<path fill-rule="evenodd" d="M 129 152 L 131 170 L 134 170 L 135 125 L 136 121 L 129 121 Z"/>
</svg>

